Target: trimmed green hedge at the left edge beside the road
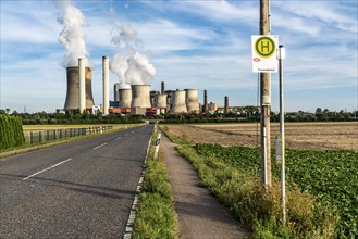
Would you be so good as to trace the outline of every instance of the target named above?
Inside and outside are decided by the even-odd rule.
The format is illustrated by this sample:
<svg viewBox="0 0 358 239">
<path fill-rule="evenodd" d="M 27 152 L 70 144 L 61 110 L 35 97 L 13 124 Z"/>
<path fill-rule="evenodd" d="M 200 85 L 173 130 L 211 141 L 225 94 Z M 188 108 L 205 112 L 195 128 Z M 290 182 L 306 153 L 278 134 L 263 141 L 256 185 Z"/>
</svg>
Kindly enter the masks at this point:
<svg viewBox="0 0 358 239">
<path fill-rule="evenodd" d="M 20 117 L 0 114 L 0 149 L 18 147 L 25 143 L 23 124 Z"/>
</svg>

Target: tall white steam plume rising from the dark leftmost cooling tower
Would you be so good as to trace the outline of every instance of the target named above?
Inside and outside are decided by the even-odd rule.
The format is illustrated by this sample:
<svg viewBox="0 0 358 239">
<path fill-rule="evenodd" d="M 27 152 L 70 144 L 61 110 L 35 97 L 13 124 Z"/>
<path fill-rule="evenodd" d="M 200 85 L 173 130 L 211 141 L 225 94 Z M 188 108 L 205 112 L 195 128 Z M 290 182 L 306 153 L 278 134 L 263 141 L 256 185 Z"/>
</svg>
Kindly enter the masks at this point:
<svg viewBox="0 0 358 239">
<path fill-rule="evenodd" d="M 86 18 L 79 9 L 69 0 L 57 0 L 62 7 L 62 15 L 58 22 L 63 25 L 59 41 L 64 45 L 66 51 L 62 62 L 63 67 L 78 66 L 78 58 L 85 58 L 86 66 L 89 66 L 88 51 L 86 49 Z"/>
</svg>

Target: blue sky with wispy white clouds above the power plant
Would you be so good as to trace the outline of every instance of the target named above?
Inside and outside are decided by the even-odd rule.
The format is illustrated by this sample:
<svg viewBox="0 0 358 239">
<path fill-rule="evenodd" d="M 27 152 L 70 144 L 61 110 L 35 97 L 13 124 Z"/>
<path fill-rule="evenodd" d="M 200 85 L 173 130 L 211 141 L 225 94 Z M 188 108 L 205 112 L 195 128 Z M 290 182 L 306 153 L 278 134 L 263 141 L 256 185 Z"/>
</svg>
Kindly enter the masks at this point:
<svg viewBox="0 0 358 239">
<path fill-rule="evenodd" d="M 66 72 L 60 4 L 1 0 L 0 109 L 54 112 L 64 106 Z M 151 90 L 203 89 L 219 106 L 258 105 L 251 35 L 259 34 L 259 0 L 72 1 L 86 18 L 86 47 L 95 104 L 102 104 L 103 55 L 121 49 L 113 29 L 129 24 L 156 68 Z M 286 49 L 285 111 L 358 109 L 358 3 L 356 0 L 272 0 L 271 35 Z M 123 49 L 122 49 L 123 50 Z M 110 74 L 110 99 L 113 84 Z M 279 74 L 271 74 L 272 111 L 279 111 Z"/>
</svg>

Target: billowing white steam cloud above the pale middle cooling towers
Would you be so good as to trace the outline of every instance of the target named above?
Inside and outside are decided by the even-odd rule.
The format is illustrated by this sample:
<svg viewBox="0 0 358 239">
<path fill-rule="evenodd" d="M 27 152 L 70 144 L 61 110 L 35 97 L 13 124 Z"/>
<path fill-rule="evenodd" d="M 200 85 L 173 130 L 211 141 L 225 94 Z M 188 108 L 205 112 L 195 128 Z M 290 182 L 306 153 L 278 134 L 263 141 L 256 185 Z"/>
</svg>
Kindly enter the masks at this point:
<svg viewBox="0 0 358 239">
<path fill-rule="evenodd" d="M 129 24 L 112 30 L 112 43 L 122 49 L 110 62 L 111 71 L 119 77 L 120 88 L 129 88 L 131 85 L 149 85 L 156 75 L 156 68 L 149 59 L 139 50 L 141 40 L 137 37 Z"/>
</svg>

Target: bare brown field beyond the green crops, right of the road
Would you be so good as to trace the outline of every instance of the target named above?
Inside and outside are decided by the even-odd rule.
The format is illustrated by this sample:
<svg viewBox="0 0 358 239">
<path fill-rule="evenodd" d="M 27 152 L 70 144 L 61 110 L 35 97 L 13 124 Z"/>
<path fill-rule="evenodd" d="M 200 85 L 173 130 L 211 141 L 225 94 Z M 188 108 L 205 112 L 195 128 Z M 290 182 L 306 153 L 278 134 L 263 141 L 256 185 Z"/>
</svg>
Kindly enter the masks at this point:
<svg viewBox="0 0 358 239">
<path fill-rule="evenodd" d="M 260 124 L 164 125 L 188 141 L 222 146 L 260 146 Z M 271 147 L 280 134 L 280 124 L 271 123 Z M 312 150 L 358 150 L 358 122 L 285 123 L 286 148 Z"/>
</svg>

